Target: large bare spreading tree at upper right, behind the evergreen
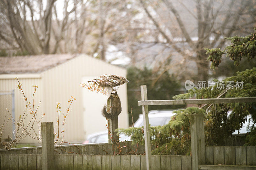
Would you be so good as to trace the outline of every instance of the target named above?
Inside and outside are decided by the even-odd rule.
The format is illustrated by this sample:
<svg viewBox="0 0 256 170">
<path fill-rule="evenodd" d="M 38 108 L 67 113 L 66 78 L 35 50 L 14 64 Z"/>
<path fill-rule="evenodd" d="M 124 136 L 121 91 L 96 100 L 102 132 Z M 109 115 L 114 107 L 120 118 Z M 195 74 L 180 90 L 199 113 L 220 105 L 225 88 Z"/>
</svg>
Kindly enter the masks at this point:
<svg viewBox="0 0 256 170">
<path fill-rule="evenodd" d="M 209 63 L 206 62 L 205 47 L 223 48 L 225 42 L 223 37 L 238 32 L 240 35 L 248 33 L 256 24 L 254 8 L 256 2 L 250 0 L 179 0 L 176 3 L 171 0 L 161 0 L 161 2 L 140 0 L 140 4 L 156 27 L 155 33 L 163 37 L 163 42 L 175 49 L 182 57 L 196 62 L 197 80 L 208 80 Z M 195 8 L 191 9 L 189 5 Z M 192 27 L 189 23 L 191 21 L 194 21 Z M 197 31 L 197 39 L 191 35 L 195 31 Z M 186 44 L 187 48 L 179 47 L 177 41 L 174 41 L 175 38 L 182 38 L 180 42 Z M 189 53 L 186 52 L 188 49 Z"/>
</svg>

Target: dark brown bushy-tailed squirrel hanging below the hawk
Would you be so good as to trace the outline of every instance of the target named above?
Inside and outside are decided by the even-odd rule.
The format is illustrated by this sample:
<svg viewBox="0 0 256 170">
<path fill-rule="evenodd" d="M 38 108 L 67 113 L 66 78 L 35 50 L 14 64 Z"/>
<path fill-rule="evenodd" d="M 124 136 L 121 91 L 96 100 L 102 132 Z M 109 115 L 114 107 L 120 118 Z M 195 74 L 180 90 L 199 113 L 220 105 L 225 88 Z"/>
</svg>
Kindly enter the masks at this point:
<svg viewBox="0 0 256 170">
<path fill-rule="evenodd" d="M 102 109 L 102 115 L 108 119 L 109 118 L 113 119 L 115 116 L 117 117 L 121 113 L 122 107 L 121 107 L 120 98 L 116 92 L 110 96 L 110 100 L 111 100 L 111 107 L 109 109 L 110 113 L 107 113 L 107 106 L 105 105 Z"/>
</svg>

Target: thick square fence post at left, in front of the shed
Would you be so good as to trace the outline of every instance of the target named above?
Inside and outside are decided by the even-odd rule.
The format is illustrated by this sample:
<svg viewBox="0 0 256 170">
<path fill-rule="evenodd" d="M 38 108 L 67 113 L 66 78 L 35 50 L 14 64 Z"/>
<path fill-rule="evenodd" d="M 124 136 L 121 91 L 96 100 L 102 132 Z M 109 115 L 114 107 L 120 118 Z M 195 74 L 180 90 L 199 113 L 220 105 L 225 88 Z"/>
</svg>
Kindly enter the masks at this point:
<svg viewBox="0 0 256 170">
<path fill-rule="evenodd" d="M 53 122 L 42 122 L 42 169 L 55 169 Z"/>
</svg>

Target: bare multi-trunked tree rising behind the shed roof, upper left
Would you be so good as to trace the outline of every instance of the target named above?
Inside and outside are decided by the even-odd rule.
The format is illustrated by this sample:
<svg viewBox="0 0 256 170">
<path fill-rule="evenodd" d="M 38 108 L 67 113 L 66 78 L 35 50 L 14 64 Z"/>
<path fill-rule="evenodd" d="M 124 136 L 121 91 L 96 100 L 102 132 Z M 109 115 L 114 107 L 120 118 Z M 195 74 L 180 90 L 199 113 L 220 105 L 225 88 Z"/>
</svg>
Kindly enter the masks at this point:
<svg viewBox="0 0 256 170">
<path fill-rule="evenodd" d="M 61 17 L 58 16 L 55 2 L 0 0 L 0 16 L 4 27 L 4 33 L 0 32 L 1 39 L 9 46 L 20 48 L 31 55 L 56 53 L 65 32 L 75 21 L 70 16 L 82 1 L 65 0 Z M 68 10 L 69 6 L 73 7 Z"/>
</svg>

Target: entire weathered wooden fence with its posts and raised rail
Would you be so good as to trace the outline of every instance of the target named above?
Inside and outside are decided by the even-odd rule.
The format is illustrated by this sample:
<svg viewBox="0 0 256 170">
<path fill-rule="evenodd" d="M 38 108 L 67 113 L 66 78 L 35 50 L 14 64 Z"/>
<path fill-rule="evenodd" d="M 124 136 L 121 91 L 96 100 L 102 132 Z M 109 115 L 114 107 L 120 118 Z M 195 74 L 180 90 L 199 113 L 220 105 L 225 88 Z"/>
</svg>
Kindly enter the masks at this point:
<svg viewBox="0 0 256 170">
<path fill-rule="evenodd" d="M 164 104 L 204 104 L 256 102 L 256 97 L 228 99 L 199 100 L 147 100 L 146 86 L 141 87 L 144 117 L 145 147 L 139 146 L 136 154 L 146 152 L 146 155 L 127 154 L 131 148 L 136 148 L 131 142 L 120 142 L 123 148 L 115 155 L 112 144 L 77 144 L 54 147 L 53 122 L 44 122 L 42 127 L 42 147 L 30 149 L 12 149 L 0 151 L 1 169 L 256 169 L 256 146 L 205 146 L 204 118 L 200 114 L 192 114 L 191 150 L 192 156 L 151 156 L 149 139 L 148 105 Z M 123 147 L 125 146 L 125 147 Z"/>
</svg>

